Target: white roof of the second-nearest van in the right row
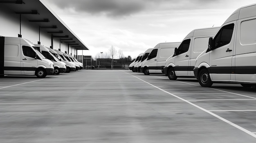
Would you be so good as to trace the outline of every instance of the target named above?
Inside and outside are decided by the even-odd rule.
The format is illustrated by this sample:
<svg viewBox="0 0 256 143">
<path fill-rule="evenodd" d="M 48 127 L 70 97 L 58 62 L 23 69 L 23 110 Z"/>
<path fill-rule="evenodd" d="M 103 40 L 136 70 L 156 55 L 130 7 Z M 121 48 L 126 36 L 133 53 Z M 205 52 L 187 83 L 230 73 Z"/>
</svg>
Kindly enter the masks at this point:
<svg viewBox="0 0 256 143">
<path fill-rule="evenodd" d="M 208 27 L 208 28 L 194 29 L 188 35 L 186 35 L 186 37 L 184 39 L 189 38 L 189 37 L 215 35 L 219 29 L 220 29 L 220 27 Z"/>
</svg>

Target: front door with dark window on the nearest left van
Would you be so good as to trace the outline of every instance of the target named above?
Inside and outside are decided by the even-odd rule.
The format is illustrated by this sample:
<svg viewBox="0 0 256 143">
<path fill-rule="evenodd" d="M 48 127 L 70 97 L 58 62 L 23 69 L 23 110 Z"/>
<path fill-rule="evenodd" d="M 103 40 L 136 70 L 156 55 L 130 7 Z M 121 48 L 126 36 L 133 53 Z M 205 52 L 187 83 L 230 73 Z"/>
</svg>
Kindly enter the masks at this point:
<svg viewBox="0 0 256 143">
<path fill-rule="evenodd" d="M 37 54 L 34 49 L 27 45 L 21 45 L 21 63 L 24 75 L 34 75 L 37 64 Z"/>
</svg>

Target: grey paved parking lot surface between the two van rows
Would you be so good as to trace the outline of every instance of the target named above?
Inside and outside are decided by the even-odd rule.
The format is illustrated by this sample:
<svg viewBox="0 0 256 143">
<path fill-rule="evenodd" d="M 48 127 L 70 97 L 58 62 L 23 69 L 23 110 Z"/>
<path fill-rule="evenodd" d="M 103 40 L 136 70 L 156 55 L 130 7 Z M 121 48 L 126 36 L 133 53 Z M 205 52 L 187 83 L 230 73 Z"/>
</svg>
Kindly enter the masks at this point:
<svg viewBox="0 0 256 143">
<path fill-rule="evenodd" d="M 130 70 L 0 78 L 1 143 L 256 143 L 256 91 Z"/>
</svg>

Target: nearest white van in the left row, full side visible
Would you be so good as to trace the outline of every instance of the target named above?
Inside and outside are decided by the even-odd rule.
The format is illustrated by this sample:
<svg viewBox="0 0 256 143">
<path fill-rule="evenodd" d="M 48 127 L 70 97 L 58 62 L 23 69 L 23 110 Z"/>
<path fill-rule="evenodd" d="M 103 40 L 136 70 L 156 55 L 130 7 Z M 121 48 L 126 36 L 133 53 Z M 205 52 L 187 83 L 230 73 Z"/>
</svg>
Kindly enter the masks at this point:
<svg viewBox="0 0 256 143">
<path fill-rule="evenodd" d="M 20 37 L 0 37 L 0 76 L 52 75 L 53 63 L 38 56 L 33 44 Z"/>
</svg>

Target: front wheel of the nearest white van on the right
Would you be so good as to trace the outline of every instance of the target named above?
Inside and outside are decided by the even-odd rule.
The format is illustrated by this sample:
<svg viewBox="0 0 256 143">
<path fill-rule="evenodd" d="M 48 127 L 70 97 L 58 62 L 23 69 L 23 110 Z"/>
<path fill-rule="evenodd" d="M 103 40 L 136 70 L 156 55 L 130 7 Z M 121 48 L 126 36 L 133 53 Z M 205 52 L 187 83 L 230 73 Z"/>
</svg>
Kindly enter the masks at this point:
<svg viewBox="0 0 256 143">
<path fill-rule="evenodd" d="M 198 75 L 198 81 L 202 87 L 211 87 L 213 84 L 213 81 L 211 81 L 210 74 L 206 68 L 200 70 Z"/>
</svg>

